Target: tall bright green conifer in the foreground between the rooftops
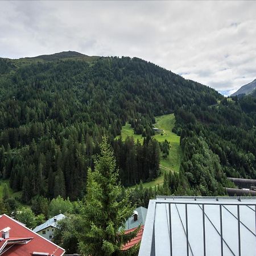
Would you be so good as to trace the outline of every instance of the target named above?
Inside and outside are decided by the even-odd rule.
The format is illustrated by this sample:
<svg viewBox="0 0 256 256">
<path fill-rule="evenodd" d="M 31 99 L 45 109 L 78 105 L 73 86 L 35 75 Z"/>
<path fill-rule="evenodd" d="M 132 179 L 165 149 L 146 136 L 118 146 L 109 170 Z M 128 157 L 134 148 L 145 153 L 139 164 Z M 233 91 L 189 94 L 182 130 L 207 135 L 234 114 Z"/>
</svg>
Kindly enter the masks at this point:
<svg viewBox="0 0 256 256">
<path fill-rule="evenodd" d="M 131 247 L 127 251 L 121 248 L 136 236 L 138 229 L 129 234 L 120 229 L 133 213 L 133 208 L 127 195 L 118 201 L 122 187 L 118 183 L 115 159 L 106 137 L 103 137 L 100 148 L 95 170 L 88 170 L 80 250 L 85 255 L 134 255 L 137 248 Z"/>
</svg>

